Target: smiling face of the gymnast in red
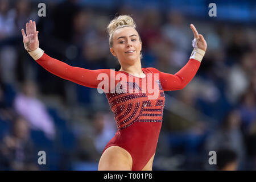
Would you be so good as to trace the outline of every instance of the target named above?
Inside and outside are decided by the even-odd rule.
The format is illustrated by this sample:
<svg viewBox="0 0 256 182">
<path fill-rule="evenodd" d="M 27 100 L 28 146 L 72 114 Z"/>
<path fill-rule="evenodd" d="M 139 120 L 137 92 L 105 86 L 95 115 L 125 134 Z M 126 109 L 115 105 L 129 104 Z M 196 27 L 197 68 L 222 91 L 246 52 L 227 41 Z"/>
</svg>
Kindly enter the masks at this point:
<svg viewBox="0 0 256 182">
<path fill-rule="evenodd" d="M 112 36 L 113 46 L 110 52 L 117 56 L 120 64 L 133 65 L 140 61 L 142 43 L 138 32 L 133 27 L 117 29 Z"/>
</svg>

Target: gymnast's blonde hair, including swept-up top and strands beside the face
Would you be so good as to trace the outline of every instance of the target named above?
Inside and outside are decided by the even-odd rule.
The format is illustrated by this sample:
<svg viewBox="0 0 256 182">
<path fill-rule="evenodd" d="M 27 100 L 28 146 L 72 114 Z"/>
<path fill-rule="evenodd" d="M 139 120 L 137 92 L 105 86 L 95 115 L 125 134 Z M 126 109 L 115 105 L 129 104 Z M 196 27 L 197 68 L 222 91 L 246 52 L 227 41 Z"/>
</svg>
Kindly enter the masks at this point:
<svg viewBox="0 0 256 182">
<path fill-rule="evenodd" d="M 109 34 L 109 46 L 113 46 L 113 33 L 118 30 L 119 28 L 123 27 L 132 27 L 136 30 L 136 24 L 129 15 L 120 15 L 115 17 L 108 25 L 107 30 Z M 136 30 L 137 31 L 137 30 Z M 139 36 L 139 34 L 138 34 Z M 139 36 L 139 41 L 141 42 L 141 36 Z M 142 53 L 140 55 L 142 59 Z"/>
</svg>

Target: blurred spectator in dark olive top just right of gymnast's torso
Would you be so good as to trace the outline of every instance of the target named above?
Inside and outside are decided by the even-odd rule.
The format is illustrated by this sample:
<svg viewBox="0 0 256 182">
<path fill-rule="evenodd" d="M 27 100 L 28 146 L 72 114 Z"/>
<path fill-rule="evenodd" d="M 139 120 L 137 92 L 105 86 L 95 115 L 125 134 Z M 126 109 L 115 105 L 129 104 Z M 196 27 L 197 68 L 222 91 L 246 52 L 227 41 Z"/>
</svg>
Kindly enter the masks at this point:
<svg viewBox="0 0 256 182">
<path fill-rule="evenodd" d="M 179 100 L 171 101 L 172 113 L 166 113 L 163 123 L 170 133 L 172 154 L 185 154 L 188 159 L 195 159 L 207 134 L 207 123 L 195 110 L 195 86 L 190 84 L 179 91 Z"/>
</svg>

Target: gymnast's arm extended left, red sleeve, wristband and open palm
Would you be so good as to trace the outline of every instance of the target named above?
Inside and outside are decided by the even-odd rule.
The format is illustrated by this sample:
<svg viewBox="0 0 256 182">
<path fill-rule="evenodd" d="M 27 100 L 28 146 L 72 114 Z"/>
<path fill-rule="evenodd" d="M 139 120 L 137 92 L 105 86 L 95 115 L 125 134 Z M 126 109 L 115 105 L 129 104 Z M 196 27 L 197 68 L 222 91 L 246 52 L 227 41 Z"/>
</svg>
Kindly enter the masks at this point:
<svg viewBox="0 0 256 182">
<path fill-rule="evenodd" d="M 36 24 L 32 20 L 26 24 L 26 34 L 22 28 L 22 36 L 24 47 L 33 59 L 47 71 L 65 80 L 73 81 L 90 88 L 97 88 L 98 83 L 102 81 L 97 79 L 98 75 L 100 73 L 110 75 L 110 69 L 90 70 L 72 67 L 48 56 L 39 48 L 38 31 L 36 31 Z"/>
</svg>

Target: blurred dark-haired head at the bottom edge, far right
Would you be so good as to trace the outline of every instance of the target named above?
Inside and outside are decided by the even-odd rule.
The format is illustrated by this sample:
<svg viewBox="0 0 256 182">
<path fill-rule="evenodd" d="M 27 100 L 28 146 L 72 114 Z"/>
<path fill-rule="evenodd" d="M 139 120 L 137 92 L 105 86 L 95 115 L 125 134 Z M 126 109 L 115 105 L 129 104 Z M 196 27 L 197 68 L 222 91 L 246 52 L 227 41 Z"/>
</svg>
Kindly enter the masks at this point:
<svg viewBox="0 0 256 182">
<path fill-rule="evenodd" d="M 237 154 L 233 150 L 222 148 L 216 152 L 217 169 L 220 171 L 236 171 L 238 167 Z"/>
</svg>

